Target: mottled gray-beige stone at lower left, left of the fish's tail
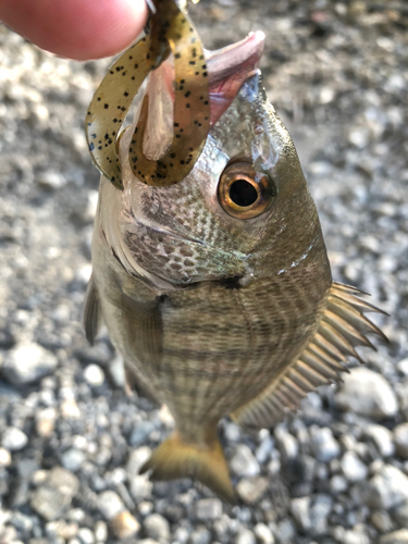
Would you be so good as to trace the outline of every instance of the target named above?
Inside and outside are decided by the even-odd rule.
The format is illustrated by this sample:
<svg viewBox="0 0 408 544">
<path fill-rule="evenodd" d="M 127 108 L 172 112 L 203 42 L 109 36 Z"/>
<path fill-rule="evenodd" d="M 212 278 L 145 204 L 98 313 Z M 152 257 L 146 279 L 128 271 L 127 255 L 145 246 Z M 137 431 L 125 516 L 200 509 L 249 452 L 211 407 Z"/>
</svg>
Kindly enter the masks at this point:
<svg viewBox="0 0 408 544">
<path fill-rule="evenodd" d="M 45 473 L 40 487 L 32 494 L 32 508 L 48 521 L 62 516 L 79 489 L 79 481 L 72 472 L 55 467 Z"/>
</svg>

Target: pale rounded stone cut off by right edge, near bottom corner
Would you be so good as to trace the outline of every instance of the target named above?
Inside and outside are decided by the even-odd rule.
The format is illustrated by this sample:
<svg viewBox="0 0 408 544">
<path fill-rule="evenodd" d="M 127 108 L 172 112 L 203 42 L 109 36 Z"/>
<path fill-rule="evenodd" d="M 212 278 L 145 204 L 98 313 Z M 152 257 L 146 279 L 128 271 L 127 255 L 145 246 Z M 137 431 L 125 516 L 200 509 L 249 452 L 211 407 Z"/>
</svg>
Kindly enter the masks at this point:
<svg viewBox="0 0 408 544">
<path fill-rule="evenodd" d="M 369 506 L 393 508 L 408 500 L 408 477 L 392 465 L 384 465 L 364 487 Z"/>
</svg>

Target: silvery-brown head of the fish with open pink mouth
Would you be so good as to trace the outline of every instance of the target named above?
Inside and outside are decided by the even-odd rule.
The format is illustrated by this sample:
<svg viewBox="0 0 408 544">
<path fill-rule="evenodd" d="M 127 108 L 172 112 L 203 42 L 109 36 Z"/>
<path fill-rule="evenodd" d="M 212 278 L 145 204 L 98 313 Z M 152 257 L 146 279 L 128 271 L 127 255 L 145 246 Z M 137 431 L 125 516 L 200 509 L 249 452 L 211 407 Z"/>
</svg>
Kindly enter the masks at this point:
<svg viewBox="0 0 408 544">
<path fill-rule="evenodd" d="M 285 273 L 323 244 L 293 140 L 262 86 L 263 35 L 240 44 L 208 53 L 211 129 L 182 182 L 141 183 L 128 164 L 132 131 L 122 138 L 122 244 L 153 283 L 160 277 L 173 286 L 245 286 Z M 165 74 L 169 65 L 161 70 Z M 171 86 L 159 76 L 152 76 L 149 96 L 154 123 L 147 121 L 145 134 L 145 152 L 156 159 L 172 135 Z"/>
</svg>

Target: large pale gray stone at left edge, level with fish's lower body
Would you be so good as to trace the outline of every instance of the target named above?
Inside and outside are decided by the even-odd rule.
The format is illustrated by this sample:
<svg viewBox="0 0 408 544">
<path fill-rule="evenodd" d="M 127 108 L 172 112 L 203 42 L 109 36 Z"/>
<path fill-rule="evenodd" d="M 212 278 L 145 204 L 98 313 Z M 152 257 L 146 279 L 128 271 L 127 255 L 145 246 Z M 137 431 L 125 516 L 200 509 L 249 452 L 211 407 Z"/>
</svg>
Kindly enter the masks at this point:
<svg viewBox="0 0 408 544">
<path fill-rule="evenodd" d="M 55 370 L 57 357 L 35 343 L 18 344 L 4 358 L 2 374 L 10 383 L 23 385 L 40 380 Z"/>
</svg>

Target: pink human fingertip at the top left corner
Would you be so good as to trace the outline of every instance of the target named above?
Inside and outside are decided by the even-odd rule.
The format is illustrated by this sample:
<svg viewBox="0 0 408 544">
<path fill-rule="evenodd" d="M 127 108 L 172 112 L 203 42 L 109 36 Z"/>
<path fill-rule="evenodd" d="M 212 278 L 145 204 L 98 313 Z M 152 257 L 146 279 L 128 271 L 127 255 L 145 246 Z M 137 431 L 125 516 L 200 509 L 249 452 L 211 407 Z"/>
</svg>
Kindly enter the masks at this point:
<svg viewBox="0 0 408 544">
<path fill-rule="evenodd" d="M 147 16 L 145 0 L 0 0 L 0 21 L 42 49 L 76 60 L 122 51 Z"/>
</svg>

